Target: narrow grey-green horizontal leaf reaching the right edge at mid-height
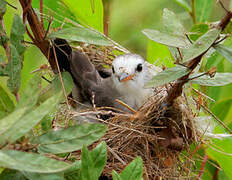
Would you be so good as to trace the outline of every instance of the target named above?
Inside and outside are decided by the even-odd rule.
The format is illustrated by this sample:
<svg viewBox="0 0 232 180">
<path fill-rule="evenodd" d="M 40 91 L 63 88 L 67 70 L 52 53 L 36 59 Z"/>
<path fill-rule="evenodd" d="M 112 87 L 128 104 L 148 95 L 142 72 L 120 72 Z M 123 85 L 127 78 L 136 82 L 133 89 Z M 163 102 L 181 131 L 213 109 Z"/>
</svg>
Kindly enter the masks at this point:
<svg viewBox="0 0 232 180">
<path fill-rule="evenodd" d="M 209 76 L 202 76 L 190 82 L 202 86 L 225 86 L 232 83 L 232 73 L 216 73 L 212 78 Z"/>
</svg>

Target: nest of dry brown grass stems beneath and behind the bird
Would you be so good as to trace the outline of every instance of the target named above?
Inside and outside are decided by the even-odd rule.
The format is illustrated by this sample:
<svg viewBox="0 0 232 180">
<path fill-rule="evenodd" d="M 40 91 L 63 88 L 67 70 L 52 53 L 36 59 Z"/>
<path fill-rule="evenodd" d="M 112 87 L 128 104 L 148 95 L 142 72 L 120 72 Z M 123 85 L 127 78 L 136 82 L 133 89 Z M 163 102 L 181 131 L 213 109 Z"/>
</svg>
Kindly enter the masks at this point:
<svg viewBox="0 0 232 180">
<path fill-rule="evenodd" d="M 92 46 L 81 48 L 82 52 L 87 52 L 86 55 L 91 54 L 90 59 L 94 59 L 94 64 L 98 62 L 96 59 L 106 59 L 99 57 L 99 54 L 112 55 L 109 49 L 103 52 L 100 49 L 99 53 L 99 49 L 94 48 L 91 53 Z M 94 56 L 96 52 L 98 54 Z M 100 66 L 104 63 L 101 61 Z M 199 133 L 195 128 L 193 112 L 184 96 L 176 98 L 171 104 L 167 103 L 171 89 L 172 84 L 158 87 L 154 90 L 155 95 L 137 111 L 113 113 L 113 117 L 101 120 L 108 126 L 106 134 L 99 140 L 105 141 L 108 146 L 103 176 L 112 179 L 112 170 L 121 172 L 137 156 L 143 159 L 144 179 L 193 176 L 190 170 L 192 161 L 181 156 L 181 153 L 184 150 L 188 152 L 190 144 L 200 140 Z"/>
</svg>

